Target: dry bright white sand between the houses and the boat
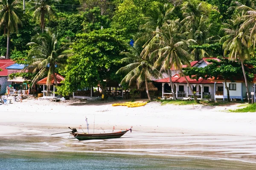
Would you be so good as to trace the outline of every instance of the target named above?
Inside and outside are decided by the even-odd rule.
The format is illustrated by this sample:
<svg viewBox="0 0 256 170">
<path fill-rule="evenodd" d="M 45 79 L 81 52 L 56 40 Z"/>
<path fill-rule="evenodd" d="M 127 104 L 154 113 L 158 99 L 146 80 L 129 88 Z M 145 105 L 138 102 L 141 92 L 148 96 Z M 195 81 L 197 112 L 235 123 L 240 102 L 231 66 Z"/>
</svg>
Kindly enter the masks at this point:
<svg viewBox="0 0 256 170">
<path fill-rule="evenodd" d="M 0 105 L 0 125 L 25 124 L 31 126 L 86 127 L 125 129 L 133 126 L 137 131 L 215 133 L 256 136 L 256 113 L 227 113 L 237 105 L 209 107 L 201 111 L 193 105 L 160 105 L 150 102 L 143 107 L 113 107 L 113 102 L 67 102 L 25 99 L 10 105 Z M 107 108 L 108 111 L 104 111 Z M 104 111 L 104 112 L 101 112 Z M 10 129 L 12 130 L 12 129 Z M 5 130 L 0 130 L 0 135 Z"/>
</svg>

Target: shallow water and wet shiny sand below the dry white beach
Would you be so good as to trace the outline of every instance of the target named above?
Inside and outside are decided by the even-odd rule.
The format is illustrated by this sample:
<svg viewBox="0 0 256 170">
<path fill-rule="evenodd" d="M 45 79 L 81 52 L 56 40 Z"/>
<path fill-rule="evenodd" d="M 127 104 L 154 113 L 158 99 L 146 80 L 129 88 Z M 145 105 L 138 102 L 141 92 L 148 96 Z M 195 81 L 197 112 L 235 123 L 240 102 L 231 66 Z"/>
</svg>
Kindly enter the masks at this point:
<svg viewBox="0 0 256 170">
<path fill-rule="evenodd" d="M 184 136 L 181 138 L 180 135 L 154 133 L 157 136 L 154 144 L 150 133 L 129 134 L 134 136 L 90 141 L 36 135 L 2 136 L 0 170 L 256 170 L 256 164 L 248 162 L 247 159 L 236 161 L 205 156 L 214 150 L 223 153 L 226 145 L 227 148 L 230 147 L 233 144 L 230 143 L 232 138 L 227 136 L 212 136 L 209 139 L 209 136 L 189 135 L 187 138 L 192 141 L 191 144 L 183 139 Z M 196 140 L 193 141 L 192 138 Z M 214 142 L 213 138 L 218 140 L 221 147 L 213 147 L 209 143 L 208 140 Z M 228 139 L 227 144 L 223 138 Z M 247 143 L 243 144 L 248 146 Z M 248 148 L 250 147 L 245 151 L 251 150 Z M 191 156 L 191 150 L 199 151 Z M 235 149 L 232 147 L 230 150 Z M 190 156 L 183 153 L 190 153 Z M 220 158 L 227 154 L 220 154 Z M 231 156 L 236 157 L 239 154 L 242 153 L 233 153 Z M 246 156 L 248 160 L 255 157 L 248 153 L 244 154 Z"/>
</svg>

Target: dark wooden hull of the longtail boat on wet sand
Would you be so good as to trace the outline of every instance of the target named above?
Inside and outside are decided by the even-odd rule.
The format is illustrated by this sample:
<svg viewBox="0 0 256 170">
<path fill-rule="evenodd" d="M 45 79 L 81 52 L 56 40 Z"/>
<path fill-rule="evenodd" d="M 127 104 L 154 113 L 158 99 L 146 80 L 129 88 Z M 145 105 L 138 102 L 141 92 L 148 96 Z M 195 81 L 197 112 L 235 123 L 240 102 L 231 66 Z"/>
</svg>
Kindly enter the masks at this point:
<svg viewBox="0 0 256 170">
<path fill-rule="evenodd" d="M 72 133 L 70 133 L 69 139 L 78 139 L 79 141 L 84 141 L 84 140 L 92 140 L 92 139 L 120 138 L 129 130 L 131 131 L 131 128 L 126 130 L 121 130 L 119 132 L 113 132 L 113 133 L 81 133 L 81 132 L 73 131 Z"/>
</svg>

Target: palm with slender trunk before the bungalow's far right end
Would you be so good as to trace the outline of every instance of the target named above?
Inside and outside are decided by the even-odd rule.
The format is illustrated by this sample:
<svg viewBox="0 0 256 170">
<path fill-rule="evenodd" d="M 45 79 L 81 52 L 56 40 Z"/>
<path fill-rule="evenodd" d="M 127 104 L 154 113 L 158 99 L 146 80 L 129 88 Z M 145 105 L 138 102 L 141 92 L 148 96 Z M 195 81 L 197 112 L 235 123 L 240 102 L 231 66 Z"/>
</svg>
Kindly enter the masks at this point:
<svg viewBox="0 0 256 170">
<path fill-rule="evenodd" d="M 220 42 L 223 43 L 224 56 L 228 54 L 229 59 L 239 59 L 244 75 L 244 81 L 247 91 L 248 102 L 250 100 L 249 88 L 247 85 L 247 77 L 244 71 L 244 60 L 250 59 L 250 56 L 254 56 L 254 50 L 250 45 L 250 33 L 246 30 L 239 29 L 239 25 L 233 20 L 230 20 L 230 24 L 224 23 L 226 28 L 225 36 L 221 38 Z"/>
</svg>

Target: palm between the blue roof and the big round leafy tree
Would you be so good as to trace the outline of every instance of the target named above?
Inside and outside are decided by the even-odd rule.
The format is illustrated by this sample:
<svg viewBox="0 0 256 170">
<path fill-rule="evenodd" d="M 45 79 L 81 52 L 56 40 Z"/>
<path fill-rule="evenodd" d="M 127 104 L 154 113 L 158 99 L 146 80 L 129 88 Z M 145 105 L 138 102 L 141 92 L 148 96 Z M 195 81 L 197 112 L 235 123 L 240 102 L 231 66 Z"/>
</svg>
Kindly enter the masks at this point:
<svg viewBox="0 0 256 170">
<path fill-rule="evenodd" d="M 57 68 L 59 70 L 64 69 L 67 58 L 72 52 L 69 49 L 70 44 L 59 44 L 57 36 L 52 30 L 47 28 L 45 31 L 43 34 L 32 37 L 32 42 L 27 44 L 31 46 L 27 57 L 29 62 L 27 68 L 32 68 L 33 73 L 37 73 L 32 80 L 32 87 L 39 79 L 47 74 L 47 91 L 49 91 L 52 76 L 55 85 L 58 86 L 55 77 L 56 70 Z"/>
</svg>

